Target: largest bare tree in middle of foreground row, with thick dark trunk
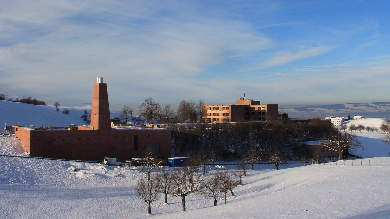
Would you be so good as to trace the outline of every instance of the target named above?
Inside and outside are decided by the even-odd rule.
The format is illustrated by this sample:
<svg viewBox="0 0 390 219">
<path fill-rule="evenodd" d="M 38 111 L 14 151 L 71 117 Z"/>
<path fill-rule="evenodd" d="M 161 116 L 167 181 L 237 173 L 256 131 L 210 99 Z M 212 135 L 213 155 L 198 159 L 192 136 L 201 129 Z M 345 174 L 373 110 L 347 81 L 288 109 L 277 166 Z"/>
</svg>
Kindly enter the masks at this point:
<svg viewBox="0 0 390 219">
<path fill-rule="evenodd" d="M 183 211 L 186 210 L 186 196 L 191 193 L 199 192 L 204 186 L 204 175 L 196 168 L 190 170 L 189 167 L 180 167 L 174 171 L 174 189 L 173 196 L 181 196 Z"/>
</svg>

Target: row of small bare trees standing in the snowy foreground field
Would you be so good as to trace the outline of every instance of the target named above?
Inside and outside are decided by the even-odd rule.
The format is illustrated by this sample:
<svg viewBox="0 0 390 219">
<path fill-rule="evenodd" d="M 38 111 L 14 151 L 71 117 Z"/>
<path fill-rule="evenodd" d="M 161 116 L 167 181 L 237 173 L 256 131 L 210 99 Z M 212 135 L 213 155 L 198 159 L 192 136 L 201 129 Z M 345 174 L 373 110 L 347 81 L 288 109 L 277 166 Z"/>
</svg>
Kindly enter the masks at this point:
<svg viewBox="0 0 390 219">
<path fill-rule="evenodd" d="M 242 170 L 241 170 L 242 172 Z M 237 180 L 234 176 L 240 176 Z M 160 193 L 164 195 L 164 203 L 167 203 L 167 196 L 180 197 L 182 210 L 186 210 L 186 197 L 191 193 L 213 198 L 216 206 L 217 198 L 224 196 L 227 202 L 227 194 L 234 196 L 233 189 L 242 183 L 243 175 L 228 170 L 215 171 L 210 175 L 205 175 L 200 170 L 200 166 L 190 165 L 177 167 L 171 171 L 168 168 L 159 168 L 159 171 L 152 173 L 150 180 L 140 178 L 134 191 L 138 198 L 148 204 L 148 214 L 151 214 L 151 203 L 160 198 Z"/>
</svg>

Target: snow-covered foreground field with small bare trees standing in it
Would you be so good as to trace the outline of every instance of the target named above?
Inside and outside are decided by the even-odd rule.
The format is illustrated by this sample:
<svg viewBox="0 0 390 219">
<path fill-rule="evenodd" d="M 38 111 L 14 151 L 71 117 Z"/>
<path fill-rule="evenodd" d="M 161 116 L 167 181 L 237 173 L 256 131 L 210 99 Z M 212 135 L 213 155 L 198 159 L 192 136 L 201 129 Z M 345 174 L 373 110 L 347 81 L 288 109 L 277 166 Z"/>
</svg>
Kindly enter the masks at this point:
<svg viewBox="0 0 390 219">
<path fill-rule="evenodd" d="M 24 154 L 12 136 L 0 136 L 0 146 Z M 163 205 L 161 197 L 152 215 L 133 191 L 140 170 L 27 157 L 0 164 L 0 218 L 390 218 L 389 157 L 250 170 L 226 205 L 191 194 L 181 212 L 181 198 Z"/>
</svg>

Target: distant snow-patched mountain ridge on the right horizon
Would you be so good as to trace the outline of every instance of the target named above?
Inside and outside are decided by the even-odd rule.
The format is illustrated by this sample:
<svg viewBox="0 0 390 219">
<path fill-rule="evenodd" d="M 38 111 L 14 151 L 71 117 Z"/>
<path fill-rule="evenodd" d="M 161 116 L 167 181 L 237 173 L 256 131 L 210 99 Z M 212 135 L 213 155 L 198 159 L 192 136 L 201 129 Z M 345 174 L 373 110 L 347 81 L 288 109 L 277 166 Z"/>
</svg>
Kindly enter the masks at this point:
<svg viewBox="0 0 390 219">
<path fill-rule="evenodd" d="M 290 118 L 314 118 L 326 116 L 353 117 L 355 114 L 365 118 L 390 118 L 390 102 L 356 102 L 322 106 L 285 106 L 280 111 L 289 113 Z"/>
</svg>

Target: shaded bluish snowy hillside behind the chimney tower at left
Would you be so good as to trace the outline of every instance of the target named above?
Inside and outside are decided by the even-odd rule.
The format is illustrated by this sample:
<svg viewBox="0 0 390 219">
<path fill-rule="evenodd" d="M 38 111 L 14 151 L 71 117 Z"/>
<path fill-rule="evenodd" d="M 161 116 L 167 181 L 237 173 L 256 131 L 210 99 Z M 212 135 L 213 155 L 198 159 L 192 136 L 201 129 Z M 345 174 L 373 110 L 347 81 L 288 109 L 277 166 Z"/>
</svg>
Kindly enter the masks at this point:
<svg viewBox="0 0 390 219">
<path fill-rule="evenodd" d="M 53 106 L 39 106 L 32 104 L 25 104 L 21 102 L 1 101 L 0 100 L 0 125 L 35 125 L 35 127 L 42 127 L 46 125 L 53 125 L 53 127 L 67 127 L 70 124 L 85 125 L 80 118 L 84 114 L 84 109 L 67 108 L 70 114 L 65 116 L 60 111 L 55 111 Z M 90 113 L 90 110 L 87 110 Z"/>
</svg>

